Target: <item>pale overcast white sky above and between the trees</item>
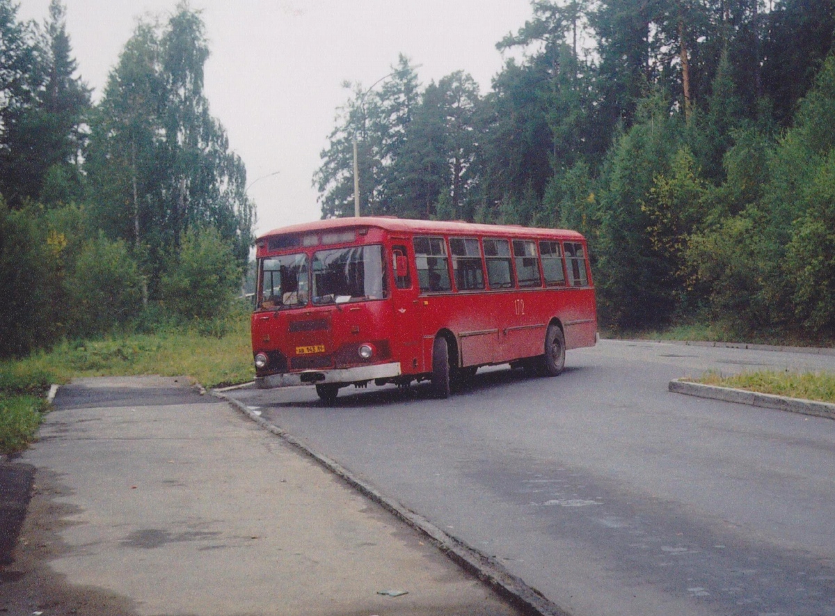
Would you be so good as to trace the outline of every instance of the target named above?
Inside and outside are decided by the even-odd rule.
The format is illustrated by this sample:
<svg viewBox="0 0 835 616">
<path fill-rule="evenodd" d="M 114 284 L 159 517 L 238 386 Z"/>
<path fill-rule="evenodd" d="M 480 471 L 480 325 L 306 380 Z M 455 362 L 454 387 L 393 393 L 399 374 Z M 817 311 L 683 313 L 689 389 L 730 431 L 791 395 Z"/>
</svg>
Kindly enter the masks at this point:
<svg viewBox="0 0 835 616">
<path fill-rule="evenodd" d="M 138 18 L 166 20 L 176 0 L 64 0 L 78 73 L 99 100 Z M 18 19 L 43 22 L 49 0 L 22 0 Z M 211 56 L 205 94 L 246 165 L 256 234 L 321 218 L 314 171 L 350 97 L 399 53 L 423 86 L 456 70 L 482 93 L 504 64 L 496 43 L 530 18 L 529 0 L 191 0 Z M 379 87 L 379 86 L 377 86 Z"/>
</svg>

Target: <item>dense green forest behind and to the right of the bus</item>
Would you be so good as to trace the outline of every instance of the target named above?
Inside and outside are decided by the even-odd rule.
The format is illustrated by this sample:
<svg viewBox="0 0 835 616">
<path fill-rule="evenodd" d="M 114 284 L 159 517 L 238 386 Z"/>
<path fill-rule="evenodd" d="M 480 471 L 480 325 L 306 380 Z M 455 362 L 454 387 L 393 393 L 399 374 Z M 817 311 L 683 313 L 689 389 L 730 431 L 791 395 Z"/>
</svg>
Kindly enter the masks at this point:
<svg viewBox="0 0 835 616">
<path fill-rule="evenodd" d="M 410 60 L 347 103 L 323 217 L 569 227 L 602 324 L 835 334 L 835 3 L 534 0 L 487 93 Z"/>
</svg>

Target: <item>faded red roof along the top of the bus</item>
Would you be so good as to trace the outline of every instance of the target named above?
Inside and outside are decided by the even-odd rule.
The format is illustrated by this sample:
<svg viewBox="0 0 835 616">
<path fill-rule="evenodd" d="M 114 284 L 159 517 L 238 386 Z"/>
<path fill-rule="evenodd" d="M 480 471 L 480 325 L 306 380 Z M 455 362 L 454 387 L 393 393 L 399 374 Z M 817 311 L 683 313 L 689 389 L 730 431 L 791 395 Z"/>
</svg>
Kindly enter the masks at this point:
<svg viewBox="0 0 835 616">
<path fill-rule="evenodd" d="M 321 230 L 349 229 L 353 227 L 377 227 L 394 233 L 429 233 L 429 234 L 474 234 L 504 235 L 509 237 L 530 237 L 536 235 L 559 240 L 583 240 L 577 231 L 565 229 L 542 229 L 521 225 L 482 225 L 461 220 L 412 220 L 394 216 L 367 216 L 361 218 L 331 218 L 316 220 L 301 225 L 290 225 L 268 231 L 260 235 L 259 240 L 274 235 L 303 234 Z"/>
</svg>

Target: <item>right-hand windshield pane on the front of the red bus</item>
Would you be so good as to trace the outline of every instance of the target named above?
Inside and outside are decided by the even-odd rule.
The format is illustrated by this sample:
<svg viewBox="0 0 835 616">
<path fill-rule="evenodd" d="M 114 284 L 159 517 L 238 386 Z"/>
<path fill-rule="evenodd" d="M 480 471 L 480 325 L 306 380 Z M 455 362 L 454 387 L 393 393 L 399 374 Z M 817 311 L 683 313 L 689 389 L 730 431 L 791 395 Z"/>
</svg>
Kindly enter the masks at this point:
<svg viewBox="0 0 835 616">
<path fill-rule="evenodd" d="M 320 250 L 313 255 L 313 303 L 382 300 L 388 296 L 382 246 Z"/>
</svg>

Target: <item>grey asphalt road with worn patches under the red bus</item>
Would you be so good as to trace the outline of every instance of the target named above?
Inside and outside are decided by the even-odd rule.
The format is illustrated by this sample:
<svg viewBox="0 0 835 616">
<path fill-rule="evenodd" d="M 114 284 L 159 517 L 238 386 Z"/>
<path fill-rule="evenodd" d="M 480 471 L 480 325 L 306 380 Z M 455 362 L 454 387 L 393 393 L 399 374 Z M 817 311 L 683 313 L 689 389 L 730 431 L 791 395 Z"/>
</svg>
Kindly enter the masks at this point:
<svg viewBox="0 0 835 616">
<path fill-rule="evenodd" d="M 835 422 L 681 396 L 835 357 L 602 341 L 556 378 L 230 392 L 576 616 L 835 614 Z"/>
</svg>

